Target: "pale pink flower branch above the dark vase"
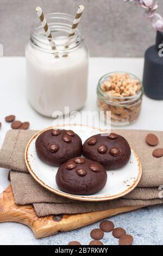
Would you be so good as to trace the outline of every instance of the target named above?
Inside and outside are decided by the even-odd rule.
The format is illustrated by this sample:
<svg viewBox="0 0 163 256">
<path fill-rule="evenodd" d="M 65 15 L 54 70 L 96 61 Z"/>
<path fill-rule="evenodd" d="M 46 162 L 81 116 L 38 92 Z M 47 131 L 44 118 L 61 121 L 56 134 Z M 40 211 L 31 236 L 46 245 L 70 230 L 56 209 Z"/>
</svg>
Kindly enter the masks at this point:
<svg viewBox="0 0 163 256">
<path fill-rule="evenodd" d="M 134 2 L 137 6 L 146 9 L 145 14 L 151 20 L 153 28 L 163 32 L 163 18 L 156 13 L 158 1 L 154 0 L 124 0 L 124 2 Z"/>
</svg>

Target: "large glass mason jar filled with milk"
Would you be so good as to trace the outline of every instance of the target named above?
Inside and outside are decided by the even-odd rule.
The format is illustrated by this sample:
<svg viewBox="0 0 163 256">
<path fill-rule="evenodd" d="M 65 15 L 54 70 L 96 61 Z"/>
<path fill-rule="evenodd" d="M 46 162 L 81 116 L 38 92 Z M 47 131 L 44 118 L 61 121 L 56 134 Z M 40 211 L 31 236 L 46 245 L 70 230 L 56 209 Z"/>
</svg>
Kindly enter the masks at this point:
<svg viewBox="0 0 163 256">
<path fill-rule="evenodd" d="M 55 47 L 47 39 L 38 20 L 26 46 L 27 95 L 30 105 L 42 115 L 65 113 L 82 108 L 87 96 L 89 53 L 81 25 L 68 37 L 73 16 L 48 14 L 46 20 Z"/>
</svg>

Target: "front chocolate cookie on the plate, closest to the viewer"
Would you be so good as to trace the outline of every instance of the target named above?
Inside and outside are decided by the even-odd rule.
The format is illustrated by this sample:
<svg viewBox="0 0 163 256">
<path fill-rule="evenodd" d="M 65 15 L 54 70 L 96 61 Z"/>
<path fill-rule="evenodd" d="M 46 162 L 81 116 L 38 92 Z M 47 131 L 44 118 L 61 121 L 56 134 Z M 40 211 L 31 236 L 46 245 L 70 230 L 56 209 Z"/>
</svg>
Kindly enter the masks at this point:
<svg viewBox="0 0 163 256">
<path fill-rule="evenodd" d="M 62 164 L 55 178 L 61 191 L 86 195 L 102 190 L 107 174 L 101 164 L 76 157 Z"/>
</svg>

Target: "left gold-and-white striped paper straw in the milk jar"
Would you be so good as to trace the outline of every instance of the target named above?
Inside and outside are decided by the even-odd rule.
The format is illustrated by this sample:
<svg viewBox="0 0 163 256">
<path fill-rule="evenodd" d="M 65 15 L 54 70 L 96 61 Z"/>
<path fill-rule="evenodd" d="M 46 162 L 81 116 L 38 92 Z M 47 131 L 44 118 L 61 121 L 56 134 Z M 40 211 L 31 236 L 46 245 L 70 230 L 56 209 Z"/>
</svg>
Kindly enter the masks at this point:
<svg viewBox="0 0 163 256">
<path fill-rule="evenodd" d="M 41 7 L 39 7 L 39 6 L 36 7 L 36 12 L 37 12 L 37 15 L 39 16 L 39 19 L 41 21 L 41 25 L 43 27 L 43 30 L 45 31 L 45 34 L 46 34 L 47 38 L 49 38 L 49 42 L 51 44 L 52 50 L 55 50 L 54 40 L 53 40 L 51 31 L 48 27 L 48 24 L 46 22 L 45 16 L 42 13 Z M 58 57 L 58 56 L 55 56 L 55 57 Z"/>
</svg>

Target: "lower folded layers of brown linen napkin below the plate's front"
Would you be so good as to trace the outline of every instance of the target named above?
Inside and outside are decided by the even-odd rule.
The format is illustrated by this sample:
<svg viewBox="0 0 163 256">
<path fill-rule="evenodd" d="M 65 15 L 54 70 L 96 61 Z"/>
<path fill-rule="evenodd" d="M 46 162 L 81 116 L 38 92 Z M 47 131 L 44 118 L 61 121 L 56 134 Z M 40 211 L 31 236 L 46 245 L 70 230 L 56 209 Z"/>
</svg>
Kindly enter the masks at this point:
<svg viewBox="0 0 163 256">
<path fill-rule="evenodd" d="M 15 203 L 33 204 L 38 217 L 55 214 L 82 214 L 103 211 L 121 206 L 149 206 L 162 204 L 158 188 L 136 188 L 123 198 L 105 202 L 80 202 L 54 194 L 40 184 L 28 173 L 11 172 L 11 185 Z"/>
</svg>

